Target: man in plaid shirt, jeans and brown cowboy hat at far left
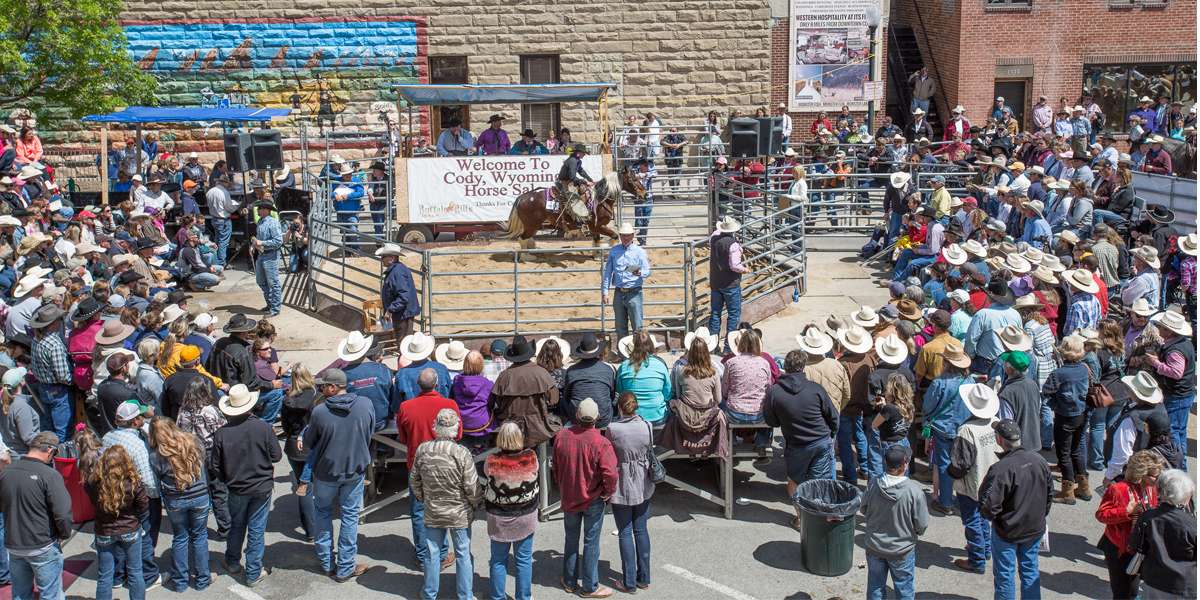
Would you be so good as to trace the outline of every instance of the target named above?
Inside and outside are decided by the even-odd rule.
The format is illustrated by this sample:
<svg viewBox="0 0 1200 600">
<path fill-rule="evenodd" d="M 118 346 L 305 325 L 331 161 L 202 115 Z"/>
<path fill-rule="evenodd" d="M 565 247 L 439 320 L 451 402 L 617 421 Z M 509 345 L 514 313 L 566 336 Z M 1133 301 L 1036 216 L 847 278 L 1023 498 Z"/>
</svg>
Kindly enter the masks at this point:
<svg viewBox="0 0 1200 600">
<path fill-rule="evenodd" d="M 48 304 L 34 312 L 30 325 L 37 338 L 34 341 L 34 362 L 30 371 L 37 378 L 38 396 L 49 416 L 49 431 L 59 442 L 66 442 L 74 414 L 73 389 L 71 386 L 71 361 L 67 343 L 62 340 L 62 316 L 66 311 Z"/>
</svg>

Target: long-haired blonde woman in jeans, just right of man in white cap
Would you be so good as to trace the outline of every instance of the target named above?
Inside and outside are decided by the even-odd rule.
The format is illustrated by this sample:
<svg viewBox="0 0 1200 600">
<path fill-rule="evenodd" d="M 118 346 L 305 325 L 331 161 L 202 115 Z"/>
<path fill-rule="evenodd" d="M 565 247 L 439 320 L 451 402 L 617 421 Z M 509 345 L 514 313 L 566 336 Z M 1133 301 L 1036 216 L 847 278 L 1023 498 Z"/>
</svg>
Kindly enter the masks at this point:
<svg viewBox="0 0 1200 600">
<path fill-rule="evenodd" d="M 172 589 L 186 590 L 190 572 L 196 574 L 196 589 L 204 589 L 212 583 L 209 574 L 210 500 L 204 443 L 194 434 L 180 431 L 170 419 L 155 416 L 150 421 L 149 445 L 150 468 L 158 476 L 163 509 L 170 518 Z"/>
</svg>

